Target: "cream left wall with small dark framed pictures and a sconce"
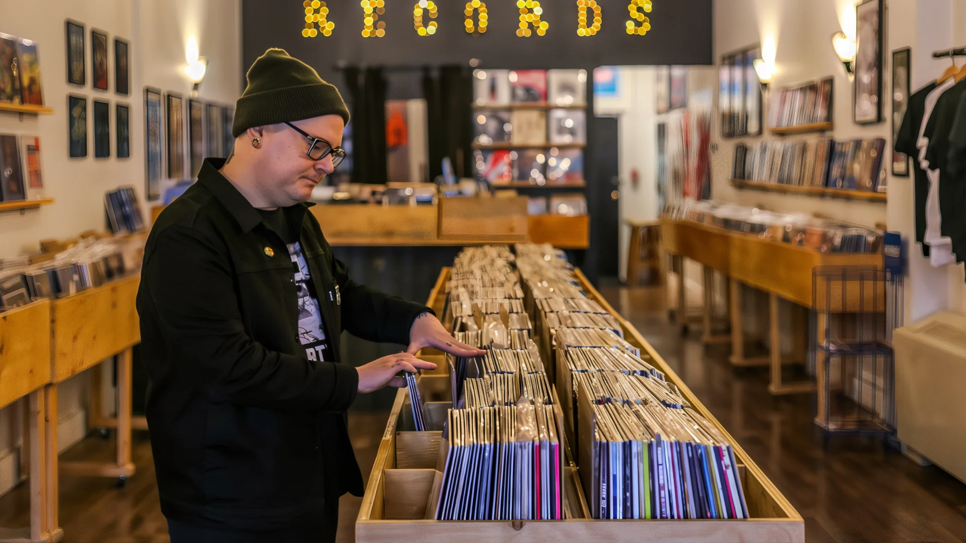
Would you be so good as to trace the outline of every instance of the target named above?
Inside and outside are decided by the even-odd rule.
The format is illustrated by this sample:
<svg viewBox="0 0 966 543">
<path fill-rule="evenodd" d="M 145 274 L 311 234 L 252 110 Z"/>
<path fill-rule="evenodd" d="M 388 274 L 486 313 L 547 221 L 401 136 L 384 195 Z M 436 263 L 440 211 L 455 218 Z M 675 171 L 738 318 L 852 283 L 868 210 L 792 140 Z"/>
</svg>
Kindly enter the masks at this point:
<svg viewBox="0 0 966 543">
<path fill-rule="evenodd" d="M 0 133 L 34 134 L 41 138 L 45 194 L 53 205 L 25 214 L 0 214 L 0 258 L 37 252 L 38 242 L 75 236 L 84 230 L 103 230 L 104 192 L 132 185 L 147 213 L 144 159 L 144 87 L 190 94 L 185 76 L 185 43 L 195 37 L 201 54 L 209 59 L 209 72 L 199 100 L 234 104 L 241 94 L 241 2 L 238 0 L 74 0 L 72 2 L 14 2 L 0 0 L 0 32 L 38 43 L 43 99 L 53 115 L 20 118 L 0 113 Z M 85 25 L 86 87 L 66 81 L 65 23 L 70 18 Z M 90 31 L 108 34 L 109 88 L 91 85 Z M 129 96 L 115 94 L 114 38 L 129 43 Z M 88 157 L 68 157 L 68 94 L 88 99 Z M 94 158 L 94 99 L 111 103 L 111 157 Z M 130 157 L 117 158 L 114 104 L 130 107 Z M 186 106 L 185 106 L 186 110 Z M 186 133 L 186 130 L 185 130 Z M 166 168 L 165 168 L 166 170 Z M 84 428 L 84 393 L 87 376 L 61 386 L 61 444 L 69 446 Z M 106 380 L 110 383 L 110 380 Z M 0 411 L 0 460 L 17 442 L 14 408 Z M 11 480 L 0 472 L 0 482 Z M 0 494 L 7 489 L 0 487 Z"/>
</svg>

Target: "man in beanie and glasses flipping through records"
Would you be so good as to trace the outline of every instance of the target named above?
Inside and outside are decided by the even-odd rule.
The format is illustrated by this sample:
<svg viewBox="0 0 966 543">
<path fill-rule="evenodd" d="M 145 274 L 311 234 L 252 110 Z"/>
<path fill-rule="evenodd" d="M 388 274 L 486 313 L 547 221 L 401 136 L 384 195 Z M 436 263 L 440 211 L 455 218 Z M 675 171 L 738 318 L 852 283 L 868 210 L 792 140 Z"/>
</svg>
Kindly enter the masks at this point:
<svg viewBox="0 0 966 543">
<path fill-rule="evenodd" d="M 433 369 L 456 342 L 428 308 L 356 284 L 307 212 L 338 165 L 349 111 L 281 49 L 248 71 L 235 151 L 157 218 L 137 309 L 148 423 L 172 543 L 333 541 L 362 495 L 346 410 L 358 392 Z M 408 345 L 355 368 L 339 335 Z"/>
</svg>

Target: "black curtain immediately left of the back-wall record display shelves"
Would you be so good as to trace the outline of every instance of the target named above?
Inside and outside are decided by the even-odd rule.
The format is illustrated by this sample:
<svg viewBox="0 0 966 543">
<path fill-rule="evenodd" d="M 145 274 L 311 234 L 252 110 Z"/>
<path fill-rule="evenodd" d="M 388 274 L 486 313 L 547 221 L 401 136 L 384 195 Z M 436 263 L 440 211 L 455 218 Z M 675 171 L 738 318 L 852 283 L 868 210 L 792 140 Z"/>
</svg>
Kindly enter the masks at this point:
<svg viewBox="0 0 966 543">
<path fill-rule="evenodd" d="M 434 74 L 423 71 L 429 129 L 430 179 L 442 174 L 442 158 L 449 157 L 457 177 L 472 177 L 472 73 L 460 66 L 444 66 Z"/>
</svg>

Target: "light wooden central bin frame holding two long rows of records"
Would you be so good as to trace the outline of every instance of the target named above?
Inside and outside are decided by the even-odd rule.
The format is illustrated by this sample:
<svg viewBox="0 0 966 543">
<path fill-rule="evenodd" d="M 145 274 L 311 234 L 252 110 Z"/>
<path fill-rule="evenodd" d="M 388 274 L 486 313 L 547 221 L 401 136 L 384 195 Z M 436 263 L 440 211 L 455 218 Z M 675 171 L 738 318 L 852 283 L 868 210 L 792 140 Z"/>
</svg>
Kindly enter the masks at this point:
<svg viewBox="0 0 966 543">
<path fill-rule="evenodd" d="M 445 283 L 450 270 L 444 268 L 427 305 L 440 315 L 445 300 Z M 725 431 L 725 428 L 697 400 L 695 394 L 670 369 L 630 323 L 617 315 L 611 305 L 576 271 L 583 291 L 597 300 L 617 319 L 625 339 L 639 347 L 641 355 L 650 357 L 663 371 L 668 382 L 675 384 L 696 411 L 715 424 L 731 443 L 739 468 L 751 519 L 739 520 L 597 520 L 590 518 L 583 498 L 580 471 L 570 460 L 568 443 L 564 486 L 567 513 L 561 521 L 436 521 L 427 508 L 434 484 L 440 473 L 435 469 L 440 457 L 441 428 L 450 407 L 450 378 L 444 369 L 419 377 L 420 391 L 427 402 L 425 413 L 433 431 L 412 432 L 409 393 L 403 388 L 385 426 L 385 432 L 362 505 L 355 521 L 355 540 L 359 543 L 390 541 L 805 541 L 805 523 L 775 485 L 754 464 L 748 454 Z M 534 315 L 530 315 L 531 319 Z M 543 353 L 541 354 L 543 356 Z M 440 364 L 439 352 L 421 352 L 419 357 Z M 553 361 L 547 365 L 553 367 Z"/>
</svg>

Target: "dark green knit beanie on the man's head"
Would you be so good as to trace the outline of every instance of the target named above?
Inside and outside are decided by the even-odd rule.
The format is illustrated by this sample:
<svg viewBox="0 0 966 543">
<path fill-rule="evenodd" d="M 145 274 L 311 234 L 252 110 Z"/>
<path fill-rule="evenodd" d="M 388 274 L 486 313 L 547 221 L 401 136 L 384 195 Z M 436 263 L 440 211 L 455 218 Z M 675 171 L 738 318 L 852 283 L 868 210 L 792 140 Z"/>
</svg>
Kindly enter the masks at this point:
<svg viewBox="0 0 966 543">
<path fill-rule="evenodd" d="M 248 86 L 235 104 L 232 135 L 252 127 L 291 123 L 323 115 L 339 115 L 349 123 L 349 108 L 338 89 L 284 49 L 269 49 L 255 59 L 246 75 Z"/>
</svg>

